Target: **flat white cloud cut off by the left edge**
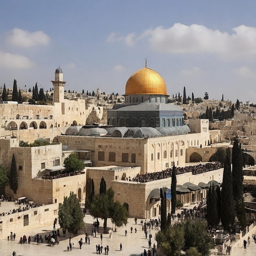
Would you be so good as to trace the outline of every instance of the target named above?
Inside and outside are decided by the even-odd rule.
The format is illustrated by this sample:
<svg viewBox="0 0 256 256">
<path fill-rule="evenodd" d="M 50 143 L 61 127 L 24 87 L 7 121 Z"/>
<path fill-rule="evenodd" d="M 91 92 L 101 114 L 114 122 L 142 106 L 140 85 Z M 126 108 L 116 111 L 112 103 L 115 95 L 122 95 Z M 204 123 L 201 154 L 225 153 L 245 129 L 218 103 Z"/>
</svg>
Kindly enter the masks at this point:
<svg viewBox="0 0 256 256">
<path fill-rule="evenodd" d="M 29 69 L 34 63 L 29 58 L 19 55 L 0 52 L 0 65 L 18 69 Z"/>
</svg>

